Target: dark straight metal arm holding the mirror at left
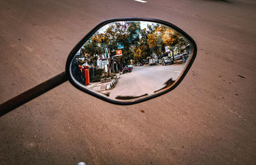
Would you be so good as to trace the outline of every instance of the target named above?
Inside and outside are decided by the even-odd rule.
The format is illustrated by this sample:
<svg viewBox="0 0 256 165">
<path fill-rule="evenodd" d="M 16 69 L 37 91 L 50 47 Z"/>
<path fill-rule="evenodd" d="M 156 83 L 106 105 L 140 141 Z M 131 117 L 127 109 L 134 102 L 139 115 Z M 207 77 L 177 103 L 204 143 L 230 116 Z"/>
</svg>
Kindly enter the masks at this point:
<svg viewBox="0 0 256 165">
<path fill-rule="evenodd" d="M 14 110 L 15 108 L 21 106 L 22 104 L 31 101 L 31 99 L 35 99 L 35 97 L 44 94 L 45 92 L 61 85 L 61 83 L 67 82 L 67 75 L 64 72 L 60 73 L 57 76 L 50 78 L 49 80 L 36 85 L 35 87 L 19 94 L 18 96 L 13 97 L 12 99 L 0 104 L 0 117 L 4 114 L 8 113 L 9 111 Z"/>
</svg>

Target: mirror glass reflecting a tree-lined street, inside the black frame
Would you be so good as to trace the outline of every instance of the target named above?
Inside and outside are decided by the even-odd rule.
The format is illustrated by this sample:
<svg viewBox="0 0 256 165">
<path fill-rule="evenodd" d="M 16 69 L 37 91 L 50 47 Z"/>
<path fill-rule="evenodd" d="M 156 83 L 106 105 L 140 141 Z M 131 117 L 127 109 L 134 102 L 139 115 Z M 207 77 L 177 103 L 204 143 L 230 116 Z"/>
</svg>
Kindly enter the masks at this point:
<svg viewBox="0 0 256 165">
<path fill-rule="evenodd" d="M 84 43 L 72 59 L 70 73 L 85 89 L 132 101 L 171 87 L 192 52 L 188 39 L 166 25 L 113 22 Z"/>
</svg>

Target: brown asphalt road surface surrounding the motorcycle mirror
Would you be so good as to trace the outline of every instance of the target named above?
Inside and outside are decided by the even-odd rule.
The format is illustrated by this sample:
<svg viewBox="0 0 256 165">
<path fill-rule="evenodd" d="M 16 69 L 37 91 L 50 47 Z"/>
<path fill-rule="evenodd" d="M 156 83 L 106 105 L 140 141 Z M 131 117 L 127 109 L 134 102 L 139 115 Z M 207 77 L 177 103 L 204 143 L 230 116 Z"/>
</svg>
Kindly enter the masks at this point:
<svg viewBox="0 0 256 165">
<path fill-rule="evenodd" d="M 0 1 L 1 103 L 63 72 L 109 18 L 166 20 L 198 46 L 179 86 L 150 101 L 114 105 L 66 82 L 4 115 L 0 164 L 255 164 L 255 13 L 254 0 Z"/>
</svg>

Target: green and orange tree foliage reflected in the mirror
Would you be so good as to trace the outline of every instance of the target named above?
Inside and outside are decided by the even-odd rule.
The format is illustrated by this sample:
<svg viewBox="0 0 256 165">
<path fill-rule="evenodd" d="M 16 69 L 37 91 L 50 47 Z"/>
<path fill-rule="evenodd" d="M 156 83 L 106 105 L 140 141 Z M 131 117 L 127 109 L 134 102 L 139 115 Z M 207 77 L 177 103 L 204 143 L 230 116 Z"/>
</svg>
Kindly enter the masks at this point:
<svg viewBox="0 0 256 165">
<path fill-rule="evenodd" d="M 150 23 L 141 29 L 141 22 L 115 22 L 98 31 L 84 46 L 84 55 L 88 64 L 97 66 L 97 55 L 106 50 L 110 55 L 108 72 L 113 68 L 111 60 L 116 50 L 122 45 L 122 56 L 117 63 L 121 68 L 131 61 L 142 63 L 152 54 L 160 57 L 166 46 L 173 49 L 186 45 L 184 38 L 175 30 L 165 25 Z M 119 48 L 120 49 L 120 48 Z"/>
</svg>

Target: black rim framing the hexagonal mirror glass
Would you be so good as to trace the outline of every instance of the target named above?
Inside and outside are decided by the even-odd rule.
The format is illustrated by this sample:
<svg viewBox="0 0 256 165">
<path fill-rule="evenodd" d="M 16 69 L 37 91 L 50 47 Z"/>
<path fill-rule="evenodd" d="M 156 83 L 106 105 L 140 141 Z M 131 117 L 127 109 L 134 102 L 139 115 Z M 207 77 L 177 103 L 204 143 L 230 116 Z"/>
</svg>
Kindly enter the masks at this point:
<svg viewBox="0 0 256 165">
<path fill-rule="evenodd" d="M 104 26 L 106 24 L 109 24 L 111 22 L 117 22 L 117 21 L 147 21 L 147 22 L 156 22 L 156 23 L 159 23 L 159 24 L 166 25 L 168 27 L 172 27 L 172 29 L 175 29 L 175 31 L 177 31 L 180 34 L 182 34 L 183 36 L 185 36 L 191 42 L 191 44 L 193 45 L 193 49 L 194 49 L 193 50 L 193 55 L 192 55 L 191 59 L 189 60 L 188 66 L 186 66 L 186 69 L 183 71 L 182 75 L 180 76 L 179 80 L 177 80 L 177 82 L 175 82 L 174 85 L 172 85 L 172 87 L 170 87 L 167 90 L 164 90 L 163 92 L 159 92 L 159 93 L 154 94 L 152 96 L 144 97 L 144 98 L 138 99 L 136 101 L 125 101 L 125 102 L 122 102 L 122 101 L 116 101 L 116 100 L 108 99 L 108 97 L 104 97 L 104 96 L 101 96 L 100 94 L 97 94 L 96 92 L 92 92 L 91 90 L 84 89 L 84 88 L 80 87 L 79 85 L 77 85 L 76 82 L 74 82 L 74 80 L 72 80 L 72 77 L 70 75 L 70 63 L 71 63 L 74 55 L 76 55 L 77 51 L 84 45 L 84 43 L 88 39 L 90 39 L 90 37 L 95 32 L 97 32 L 100 29 L 100 27 L 102 27 L 102 26 Z M 74 87 L 76 87 L 77 89 L 79 89 L 79 90 L 81 90 L 83 92 L 86 92 L 87 94 L 90 94 L 90 95 L 92 95 L 94 97 L 102 99 L 103 101 L 107 101 L 108 103 L 119 104 L 119 105 L 136 104 L 136 103 L 141 103 L 143 101 L 147 101 L 149 99 L 153 99 L 155 97 L 161 96 L 161 95 L 166 94 L 167 92 L 170 92 L 171 90 L 175 89 L 175 87 L 177 87 L 179 85 L 179 83 L 183 80 L 183 78 L 186 76 L 186 74 L 189 71 L 189 68 L 191 68 L 191 65 L 195 61 L 196 52 L 197 52 L 197 47 L 196 47 L 195 41 L 186 32 L 182 31 L 182 29 L 180 29 L 179 27 L 177 27 L 177 26 L 175 26 L 173 24 L 170 24 L 169 22 L 166 22 L 166 21 L 163 21 L 163 20 L 154 19 L 154 18 L 131 18 L 131 17 L 128 17 L 128 18 L 113 18 L 113 19 L 101 22 L 99 25 L 94 27 L 92 29 L 92 31 L 90 31 L 88 34 L 86 34 L 86 36 L 84 36 L 84 38 L 81 39 L 81 41 L 79 41 L 79 43 L 77 43 L 76 47 L 74 47 L 71 50 L 71 52 L 70 52 L 70 54 L 68 55 L 68 58 L 67 58 L 66 74 L 67 74 L 67 78 L 68 78 L 69 82 L 72 85 L 74 85 Z"/>
</svg>

